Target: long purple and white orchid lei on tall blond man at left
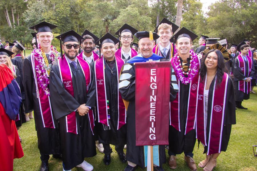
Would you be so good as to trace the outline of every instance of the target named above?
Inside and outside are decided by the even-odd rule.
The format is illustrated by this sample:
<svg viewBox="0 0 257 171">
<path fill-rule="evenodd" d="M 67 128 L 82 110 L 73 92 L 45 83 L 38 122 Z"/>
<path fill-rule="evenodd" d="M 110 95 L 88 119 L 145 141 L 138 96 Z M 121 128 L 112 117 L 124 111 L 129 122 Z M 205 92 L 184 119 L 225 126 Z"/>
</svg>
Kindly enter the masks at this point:
<svg viewBox="0 0 257 171">
<path fill-rule="evenodd" d="M 38 62 L 38 65 L 35 66 L 35 72 L 36 72 L 36 76 L 37 76 L 37 84 L 38 84 L 38 86 L 40 86 L 43 89 L 43 91 L 45 92 L 45 95 L 50 96 L 50 91 L 48 88 L 49 75 L 47 73 L 47 70 L 49 70 L 52 65 L 49 64 L 49 66 L 46 67 L 45 60 L 42 55 L 43 49 L 41 48 L 40 44 L 38 47 L 39 47 L 38 49 L 35 48 L 33 50 L 35 60 L 37 60 L 37 62 Z M 55 63 L 57 56 L 58 56 L 58 52 L 53 48 L 53 46 L 51 46 L 51 55 L 49 57 L 52 61 L 52 64 Z"/>
</svg>

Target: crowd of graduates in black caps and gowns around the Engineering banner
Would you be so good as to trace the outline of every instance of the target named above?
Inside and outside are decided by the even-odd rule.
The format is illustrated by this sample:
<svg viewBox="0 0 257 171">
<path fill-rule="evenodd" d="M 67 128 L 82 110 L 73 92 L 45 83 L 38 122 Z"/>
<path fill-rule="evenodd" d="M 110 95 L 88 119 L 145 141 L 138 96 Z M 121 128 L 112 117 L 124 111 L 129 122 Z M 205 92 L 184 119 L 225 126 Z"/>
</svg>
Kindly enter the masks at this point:
<svg viewBox="0 0 257 171">
<path fill-rule="evenodd" d="M 94 163 L 84 159 L 95 156 L 96 149 L 109 165 L 110 144 L 120 161 L 128 163 L 125 171 L 145 168 L 147 150 L 136 146 L 135 80 L 140 77 L 134 63 L 147 61 L 171 62 L 170 120 L 164 123 L 169 124 L 169 144 L 154 150 L 154 170 L 164 170 L 167 161 L 171 169 L 177 168 L 176 155 L 183 152 L 188 169 L 197 170 L 196 139 L 206 154 L 198 167 L 210 171 L 216 166 L 236 124 L 236 108 L 247 109 L 242 101 L 255 93 L 257 54 L 249 40 L 228 49 L 226 39 L 201 35 L 200 46 L 193 50 L 198 35 L 184 27 L 178 30 L 164 18 L 155 32 L 124 24 L 115 33 L 118 38 L 70 30 L 56 37 L 61 48 L 57 52 L 51 45 L 56 27 L 45 21 L 30 27 L 35 32 L 31 33 L 33 51 L 27 57 L 17 40 L 0 44 L 3 170 L 13 170 L 13 159 L 23 156 L 17 129 L 33 117 L 40 171 L 49 170 L 49 155 L 63 161 L 64 171 L 74 167 L 91 171 Z M 138 44 L 133 43 L 134 37 Z"/>
</svg>

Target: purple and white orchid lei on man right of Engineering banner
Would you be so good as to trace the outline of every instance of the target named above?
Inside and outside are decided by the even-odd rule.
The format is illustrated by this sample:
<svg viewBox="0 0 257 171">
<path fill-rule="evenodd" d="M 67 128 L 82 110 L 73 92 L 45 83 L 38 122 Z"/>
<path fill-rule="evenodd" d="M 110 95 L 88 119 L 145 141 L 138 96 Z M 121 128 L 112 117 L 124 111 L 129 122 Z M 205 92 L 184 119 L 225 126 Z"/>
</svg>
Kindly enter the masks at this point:
<svg viewBox="0 0 257 171">
<path fill-rule="evenodd" d="M 178 78 L 178 80 L 181 81 L 182 84 L 189 84 L 192 79 L 198 74 L 199 70 L 198 70 L 198 66 L 199 66 L 199 60 L 198 60 L 198 56 L 196 55 L 196 53 L 194 53 L 194 51 L 191 49 L 190 50 L 190 57 L 191 57 L 191 64 L 188 70 L 190 70 L 190 72 L 187 74 L 188 77 L 185 77 L 183 74 L 183 68 L 180 66 L 180 57 L 178 55 L 178 53 L 173 57 L 173 69 L 176 73 L 176 76 Z"/>
</svg>

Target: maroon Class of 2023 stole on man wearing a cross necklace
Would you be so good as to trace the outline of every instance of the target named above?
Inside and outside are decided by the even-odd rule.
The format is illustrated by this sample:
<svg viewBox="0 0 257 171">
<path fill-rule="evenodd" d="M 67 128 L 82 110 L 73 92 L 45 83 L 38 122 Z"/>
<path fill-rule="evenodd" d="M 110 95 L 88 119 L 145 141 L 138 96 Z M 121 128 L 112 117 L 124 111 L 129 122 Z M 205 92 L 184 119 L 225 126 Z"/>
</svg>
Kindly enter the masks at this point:
<svg viewBox="0 0 257 171">
<path fill-rule="evenodd" d="M 117 68 L 117 85 L 119 87 L 119 73 L 121 67 L 125 63 L 123 59 L 117 57 L 116 68 Z M 96 83 L 96 94 L 97 94 L 97 111 L 98 111 L 98 122 L 109 126 L 108 122 L 108 109 L 107 109 L 107 97 L 106 97 L 106 86 L 105 86 L 105 63 L 103 56 L 95 61 L 95 83 Z M 121 93 L 118 92 L 118 123 L 117 129 L 120 129 L 126 123 L 126 109 L 121 97 Z"/>
</svg>

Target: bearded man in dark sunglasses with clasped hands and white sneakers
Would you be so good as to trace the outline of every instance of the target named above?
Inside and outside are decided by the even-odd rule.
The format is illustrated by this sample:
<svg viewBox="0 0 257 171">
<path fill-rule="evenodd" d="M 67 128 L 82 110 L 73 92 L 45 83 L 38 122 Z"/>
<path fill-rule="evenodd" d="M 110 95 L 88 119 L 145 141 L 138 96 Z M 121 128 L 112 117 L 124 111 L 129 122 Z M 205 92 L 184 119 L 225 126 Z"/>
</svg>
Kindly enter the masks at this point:
<svg viewBox="0 0 257 171">
<path fill-rule="evenodd" d="M 51 68 L 50 93 L 55 119 L 59 121 L 63 170 L 75 166 L 91 171 L 85 157 L 96 155 L 93 137 L 95 78 L 89 63 L 77 56 L 82 37 L 74 30 L 57 36 L 64 55 Z M 61 51 L 62 52 L 62 51 Z"/>
</svg>

